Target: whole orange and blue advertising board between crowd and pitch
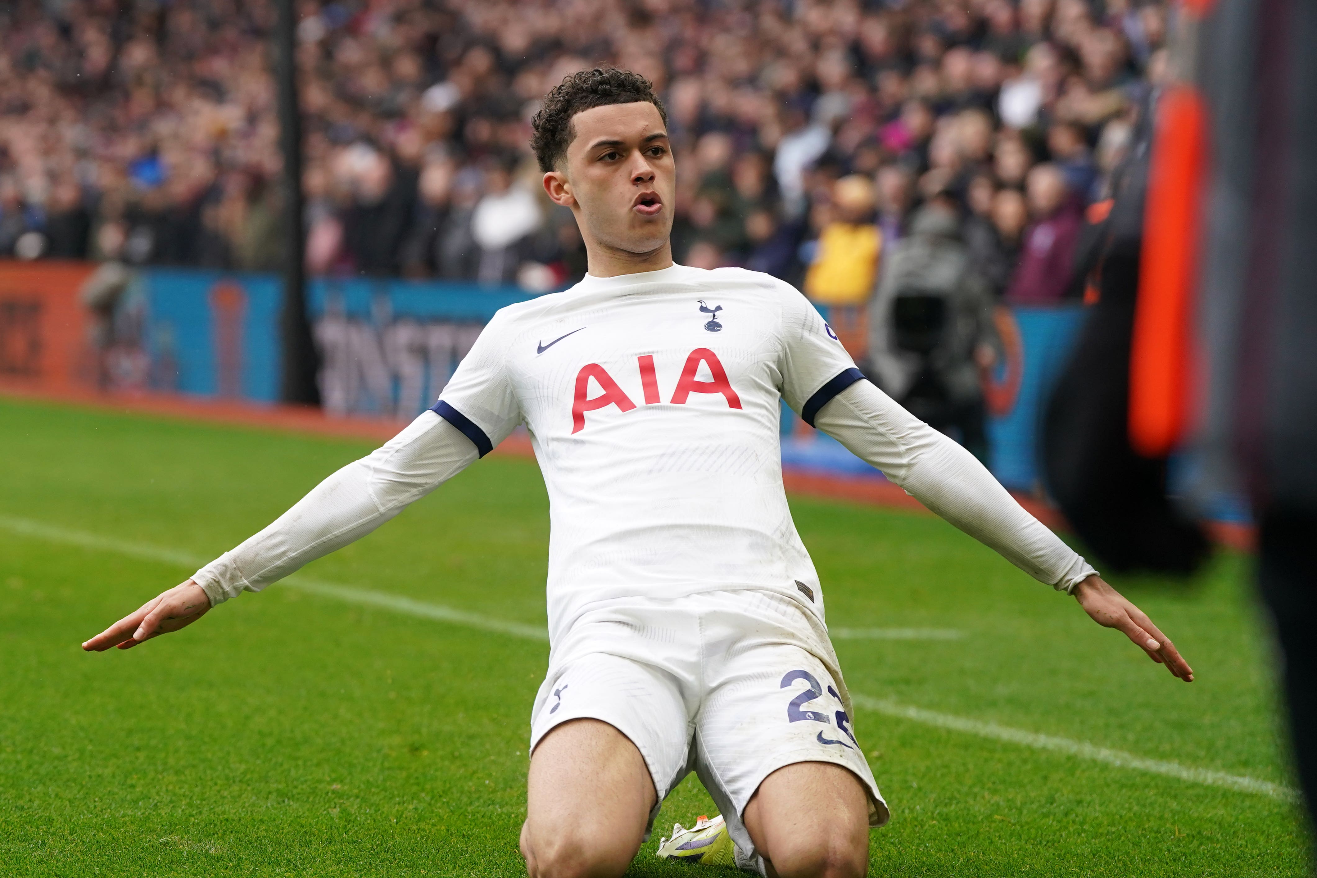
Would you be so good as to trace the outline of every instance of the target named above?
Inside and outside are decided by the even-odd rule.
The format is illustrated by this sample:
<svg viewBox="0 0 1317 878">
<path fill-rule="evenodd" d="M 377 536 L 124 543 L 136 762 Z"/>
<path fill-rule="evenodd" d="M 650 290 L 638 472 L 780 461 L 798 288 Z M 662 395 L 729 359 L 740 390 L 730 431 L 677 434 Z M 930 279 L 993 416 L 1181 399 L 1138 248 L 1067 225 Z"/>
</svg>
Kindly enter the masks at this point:
<svg viewBox="0 0 1317 878">
<path fill-rule="evenodd" d="M 307 291 L 320 391 L 335 416 L 408 420 L 433 404 L 515 287 L 320 278 Z M 0 387 L 144 391 L 273 404 L 282 283 L 269 274 L 0 262 Z M 1005 355 L 985 379 L 989 466 L 1009 488 L 1039 487 L 1038 433 L 1083 307 L 1001 308 Z M 793 467 L 881 478 L 784 408 Z"/>
</svg>

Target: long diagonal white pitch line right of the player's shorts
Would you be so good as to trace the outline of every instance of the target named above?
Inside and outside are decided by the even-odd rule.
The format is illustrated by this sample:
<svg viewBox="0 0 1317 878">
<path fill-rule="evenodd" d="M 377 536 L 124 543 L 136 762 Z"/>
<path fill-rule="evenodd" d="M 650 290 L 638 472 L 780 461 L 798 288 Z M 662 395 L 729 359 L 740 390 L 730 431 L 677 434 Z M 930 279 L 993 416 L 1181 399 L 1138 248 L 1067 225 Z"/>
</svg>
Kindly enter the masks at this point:
<svg viewBox="0 0 1317 878">
<path fill-rule="evenodd" d="M 1239 792 L 1254 792 L 1258 795 L 1271 796 L 1272 799 L 1280 799 L 1281 802 L 1300 800 L 1299 790 L 1280 783 L 1271 783 L 1270 781 L 1259 781 L 1258 778 L 1250 778 L 1242 774 L 1227 774 L 1225 771 L 1213 771 L 1210 769 L 1196 769 L 1188 765 L 1180 765 L 1179 762 L 1148 760 L 1142 756 L 1126 753 L 1125 750 L 1112 750 L 1105 746 L 1097 746 L 1096 744 L 1089 744 L 1088 741 L 1075 741 L 1068 737 L 1056 737 L 1055 735 L 1038 735 L 1023 729 L 1013 729 L 1006 725 L 997 725 L 996 723 L 972 720 L 964 716 L 952 716 L 951 713 L 938 713 L 936 711 L 926 711 L 922 707 L 898 704 L 897 702 L 885 698 L 869 698 L 868 695 L 852 694 L 851 700 L 855 702 L 856 707 L 863 707 L 864 710 L 884 713 L 886 716 L 897 716 L 905 720 L 914 720 L 915 723 L 923 723 L 925 725 L 935 725 L 952 732 L 976 735 L 979 737 L 1006 741 L 1009 744 L 1021 744 L 1038 750 L 1067 753 L 1069 756 L 1077 756 L 1083 760 L 1114 765 L 1119 769 L 1134 769 L 1137 771 L 1147 771 L 1150 774 L 1162 774 L 1168 778 L 1188 781 L 1189 783 L 1201 783 L 1210 787 L 1226 787 L 1227 790 L 1238 790 Z"/>
</svg>

